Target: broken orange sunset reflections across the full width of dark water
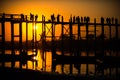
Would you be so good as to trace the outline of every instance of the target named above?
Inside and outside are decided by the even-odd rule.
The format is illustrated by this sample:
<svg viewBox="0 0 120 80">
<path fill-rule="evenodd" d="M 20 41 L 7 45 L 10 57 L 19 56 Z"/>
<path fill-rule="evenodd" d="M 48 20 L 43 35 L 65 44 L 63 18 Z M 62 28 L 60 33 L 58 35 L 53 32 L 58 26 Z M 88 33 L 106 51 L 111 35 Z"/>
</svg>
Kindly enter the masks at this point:
<svg viewBox="0 0 120 80">
<path fill-rule="evenodd" d="M 28 50 L 28 55 L 35 54 L 32 50 Z M 11 50 L 5 50 L 6 54 L 11 54 Z M 113 52 L 111 52 L 113 54 Z M 19 55 L 20 52 L 19 50 L 15 50 L 15 55 Z M 58 51 L 58 55 L 61 53 Z M 69 55 L 69 53 L 66 53 L 65 55 Z M 86 56 L 86 52 L 81 52 L 81 56 Z M 109 52 L 106 53 L 106 55 L 109 55 Z M 115 54 L 113 54 L 115 55 Z M 89 56 L 94 56 L 94 53 L 91 52 Z M 44 58 L 45 59 L 44 59 Z M 45 52 L 44 54 L 41 52 L 41 50 L 37 50 L 37 56 L 33 57 L 34 60 L 37 61 L 30 61 L 27 60 L 26 64 L 22 65 L 23 69 L 33 69 L 33 70 L 40 70 L 40 71 L 47 71 L 47 72 L 52 72 L 52 53 L 50 51 Z M 20 61 L 15 61 L 15 62 L 5 62 L 4 66 L 5 67 L 12 67 L 14 63 L 15 68 L 20 68 Z M 0 63 L 0 66 L 2 66 L 2 63 Z M 88 68 L 88 74 L 95 74 L 95 64 L 72 64 L 72 74 L 86 74 L 86 70 Z M 109 74 L 110 70 L 112 70 L 111 74 L 116 73 L 119 68 L 107 68 L 104 69 L 104 74 Z M 55 66 L 55 72 L 58 72 L 60 74 L 65 73 L 65 74 L 70 74 L 70 64 L 57 64 Z M 118 71 L 119 72 L 119 71 Z"/>
</svg>

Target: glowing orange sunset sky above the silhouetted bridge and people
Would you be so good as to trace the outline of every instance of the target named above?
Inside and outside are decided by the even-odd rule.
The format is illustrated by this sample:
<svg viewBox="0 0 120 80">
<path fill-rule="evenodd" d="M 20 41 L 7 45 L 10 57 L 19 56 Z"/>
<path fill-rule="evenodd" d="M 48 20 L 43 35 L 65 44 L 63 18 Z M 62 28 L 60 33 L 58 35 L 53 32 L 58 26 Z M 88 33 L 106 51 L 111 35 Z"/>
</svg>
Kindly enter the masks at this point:
<svg viewBox="0 0 120 80">
<path fill-rule="evenodd" d="M 0 13 L 33 13 L 40 17 L 45 15 L 48 19 L 53 13 L 66 19 L 71 14 L 92 19 L 100 19 L 101 16 L 120 19 L 119 3 L 119 0 L 0 0 Z"/>
</svg>

